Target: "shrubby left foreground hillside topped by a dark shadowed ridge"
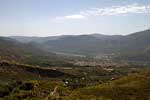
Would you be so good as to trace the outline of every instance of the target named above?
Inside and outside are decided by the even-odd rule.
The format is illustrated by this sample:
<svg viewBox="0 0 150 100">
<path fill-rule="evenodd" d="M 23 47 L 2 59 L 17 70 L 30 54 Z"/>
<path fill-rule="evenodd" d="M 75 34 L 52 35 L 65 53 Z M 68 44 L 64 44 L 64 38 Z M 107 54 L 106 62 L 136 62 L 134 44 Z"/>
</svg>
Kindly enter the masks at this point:
<svg viewBox="0 0 150 100">
<path fill-rule="evenodd" d="M 43 100 L 63 79 L 76 78 L 50 68 L 0 62 L 0 100 Z"/>
</svg>

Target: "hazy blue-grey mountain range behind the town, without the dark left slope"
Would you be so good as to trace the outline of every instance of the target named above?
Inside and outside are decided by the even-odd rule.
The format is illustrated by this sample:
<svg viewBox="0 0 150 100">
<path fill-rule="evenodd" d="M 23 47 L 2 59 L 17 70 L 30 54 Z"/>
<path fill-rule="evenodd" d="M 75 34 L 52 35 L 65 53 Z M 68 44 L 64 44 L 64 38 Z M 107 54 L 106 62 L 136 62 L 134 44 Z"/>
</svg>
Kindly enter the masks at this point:
<svg viewBox="0 0 150 100">
<path fill-rule="evenodd" d="M 113 56 L 130 60 L 150 60 L 150 30 L 130 35 L 66 35 L 53 37 L 10 37 L 51 52 L 84 56 Z"/>
</svg>

